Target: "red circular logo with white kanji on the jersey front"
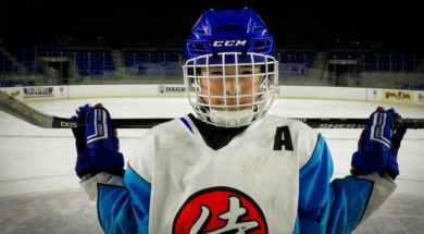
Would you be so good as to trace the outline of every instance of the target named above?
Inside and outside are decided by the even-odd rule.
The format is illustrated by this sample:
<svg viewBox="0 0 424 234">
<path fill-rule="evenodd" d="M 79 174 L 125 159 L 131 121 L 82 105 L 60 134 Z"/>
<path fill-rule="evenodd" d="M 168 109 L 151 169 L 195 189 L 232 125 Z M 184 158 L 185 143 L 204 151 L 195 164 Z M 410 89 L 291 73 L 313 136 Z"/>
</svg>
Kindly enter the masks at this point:
<svg viewBox="0 0 424 234">
<path fill-rule="evenodd" d="M 267 225 L 251 197 L 230 187 L 211 187 L 195 193 L 179 208 L 173 233 L 267 234 Z"/>
</svg>

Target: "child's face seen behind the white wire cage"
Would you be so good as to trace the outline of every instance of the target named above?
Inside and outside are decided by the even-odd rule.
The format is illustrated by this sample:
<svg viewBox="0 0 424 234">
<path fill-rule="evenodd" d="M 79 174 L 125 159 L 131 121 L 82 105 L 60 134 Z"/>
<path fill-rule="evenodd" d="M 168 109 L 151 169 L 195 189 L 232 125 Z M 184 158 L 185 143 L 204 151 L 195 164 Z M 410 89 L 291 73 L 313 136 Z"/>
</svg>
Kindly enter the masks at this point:
<svg viewBox="0 0 424 234">
<path fill-rule="evenodd" d="M 260 73 L 261 69 L 259 65 L 254 67 L 251 65 L 238 66 L 238 72 L 234 65 L 224 66 L 224 69 L 223 66 L 210 66 L 209 71 L 202 67 L 200 70 L 200 76 L 202 77 L 199 78 L 202 100 L 205 104 L 211 104 L 216 110 L 237 111 L 251 109 L 251 103 L 257 102 L 259 99 L 263 76 Z M 241 107 L 237 108 L 240 104 Z"/>
</svg>

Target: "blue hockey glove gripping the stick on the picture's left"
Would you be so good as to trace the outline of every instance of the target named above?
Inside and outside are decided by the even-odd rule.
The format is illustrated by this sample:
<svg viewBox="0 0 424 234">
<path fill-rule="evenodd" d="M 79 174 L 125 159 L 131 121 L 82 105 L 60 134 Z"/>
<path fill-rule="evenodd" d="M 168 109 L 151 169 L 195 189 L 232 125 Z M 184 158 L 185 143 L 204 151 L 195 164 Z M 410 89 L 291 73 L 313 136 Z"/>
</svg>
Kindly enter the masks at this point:
<svg viewBox="0 0 424 234">
<path fill-rule="evenodd" d="M 119 152 L 116 130 L 111 125 L 111 118 L 101 104 L 79 107 L 73 120 L 85 126 L 73 128 L 77 161 L 75 172 L 79 177 L 95 175 L 101 171 L 116 175 L 124 173 L 124 158 Z"/>
</svg>

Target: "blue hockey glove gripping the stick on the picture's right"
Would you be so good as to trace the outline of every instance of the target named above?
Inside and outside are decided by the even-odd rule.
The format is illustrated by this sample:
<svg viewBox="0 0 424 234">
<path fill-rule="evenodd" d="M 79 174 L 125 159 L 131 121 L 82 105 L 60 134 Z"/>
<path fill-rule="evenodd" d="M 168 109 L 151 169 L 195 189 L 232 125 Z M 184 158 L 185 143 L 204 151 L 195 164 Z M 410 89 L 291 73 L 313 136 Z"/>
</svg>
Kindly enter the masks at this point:
<svg viewBox="0 0 424 234">
<path fill-rule="evenodd" d="M 371 114 L 352 157 L 351 174 L 387 172 L 392 178 L 399 175 L 397 155 L 407 132 L 404 125 L 398 124 L 400 119 L 394 109 L 377 108 Z"/>
</svg>

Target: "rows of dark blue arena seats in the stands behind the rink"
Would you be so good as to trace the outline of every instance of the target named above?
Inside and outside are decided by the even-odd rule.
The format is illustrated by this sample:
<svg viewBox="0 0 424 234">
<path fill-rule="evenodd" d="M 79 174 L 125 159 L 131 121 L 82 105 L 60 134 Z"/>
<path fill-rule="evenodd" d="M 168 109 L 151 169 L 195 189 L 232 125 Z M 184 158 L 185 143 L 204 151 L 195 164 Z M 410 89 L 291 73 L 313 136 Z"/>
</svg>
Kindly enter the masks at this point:
<svg viewBox="0 0 424 234">
<path fill-rule="evenodd" d="M 122 58 L 113 58 L 107 48 L 71 47 L 13 47 L 8 50 L 30 74 L 43 74 L 40 58 L 66 58 L 79 76 L 98 77 L 114 74 L 117 64 L 134 75 L 182 75 L 183 49 L 124 48 L 119 50 Z M 314 63 L 315 51 L 277 50 L 280 75 L 307 75 Z M 116 56 L 116 54 L 115 54 Z M 424 61 L 424 54 L 403 52 L 329 51 L 328 60 L 357 60 L 365 72 L 411 72 Z M 316 62 L 316 61 L 315 61 Z M 324 63 L 323 63 L 324 64 Z M 17 73 L 16 66 L 0 52 L 0 72 Z M 316 69 L 316 67 L 315 67 Z M 22 71 L 20 71 L 22 73 Z M 4 81 L 3 81 L 4 83 Z M 5 83 L 4 83 L 5 84 Z M 8 83 L 9 84 L 9 83 Z"/>
</svg>

